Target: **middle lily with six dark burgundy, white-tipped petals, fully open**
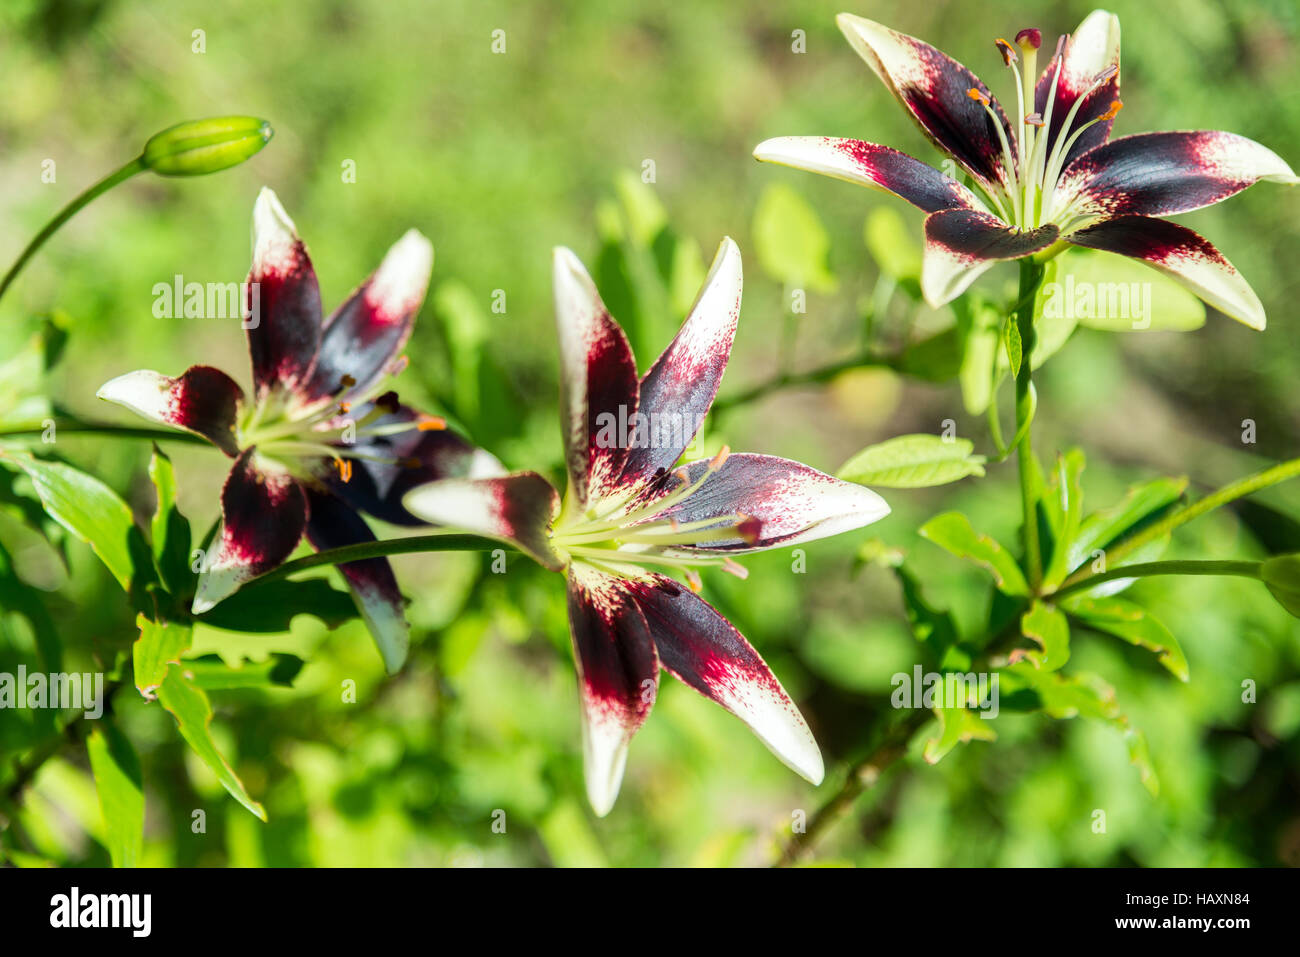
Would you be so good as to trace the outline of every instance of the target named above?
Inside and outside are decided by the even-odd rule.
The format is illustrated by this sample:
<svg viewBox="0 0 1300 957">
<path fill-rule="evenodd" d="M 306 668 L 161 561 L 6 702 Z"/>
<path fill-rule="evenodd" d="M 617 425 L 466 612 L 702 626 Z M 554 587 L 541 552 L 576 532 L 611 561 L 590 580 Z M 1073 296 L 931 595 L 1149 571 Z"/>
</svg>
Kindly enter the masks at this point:
<svg viewBox="0 0 1300 957">
<path fill-rule="evenodd" d="M 699 598 L 698 568 L 741 577 L 734 555 L 866 525 L 879 495 L 770 455 L 679 465 L 708 412 L 740 317 L 740 250 L 724 239 L 676 338 L 640 381 L 623 329 L 568 250 L 556 250 L 563 502 L 537 472 L 450 478 L 404 503 L 438 524 L 511 542 L 568 581 L 582 698 L 588 798 L 614 806 L 628 745 L 663 668 L 737 715 L 792 770 L 819 784 L 822 754 L 758 651 Z M 676 572 L 685 585 L 670 577 Z"/>
</svg>

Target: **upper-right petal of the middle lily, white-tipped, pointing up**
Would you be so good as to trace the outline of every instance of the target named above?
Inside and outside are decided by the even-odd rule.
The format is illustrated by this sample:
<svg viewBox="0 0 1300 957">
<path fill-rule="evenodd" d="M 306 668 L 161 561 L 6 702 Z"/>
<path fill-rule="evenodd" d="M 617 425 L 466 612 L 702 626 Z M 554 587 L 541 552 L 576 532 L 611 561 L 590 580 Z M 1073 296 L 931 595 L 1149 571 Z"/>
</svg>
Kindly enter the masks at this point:
<svg viewBox="0 0 1300 957">
<path fill-rule="evenodd" d="M 624 478 L 649 480 L 694 441 L 718 395 L 736 338 L 742 274 L 740 248 L 723 239 L 686 321 L 641 380 L 640 412 L 649 441 L 628 450 Z"/>
</svg>

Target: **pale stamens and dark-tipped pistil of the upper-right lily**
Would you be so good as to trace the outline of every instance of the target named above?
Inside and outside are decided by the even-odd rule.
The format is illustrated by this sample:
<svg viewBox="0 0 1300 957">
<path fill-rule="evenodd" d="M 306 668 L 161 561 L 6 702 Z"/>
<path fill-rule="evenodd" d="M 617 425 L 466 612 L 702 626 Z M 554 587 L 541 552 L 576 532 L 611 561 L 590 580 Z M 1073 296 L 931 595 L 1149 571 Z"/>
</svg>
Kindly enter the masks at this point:
<svg viewBox="0 0 1300 957">
<path fill-rule="evenodd" d="M 998 52 L 1002 62 L 1015 75 L 1017 100 L 1017 143 L 1013 152 L 1010 142 L 1002 127 L 1002 122 L 993 112 L 989 96 L 976 87 L 966 91 L 967 96 L 984 107 L 993 129 L 997 131 L 998 143 L 1002 148 L 1002 165 L 1006 169 L 1008 182 L 988 186 L 978 182 L 982 191 L 993 204 L 997 215 L 1011 226 L 1022 230 L 1039 229 L 1045 225 L 1060 226 L 1065 231 L 1082 215 L 1078 209 L 1079 200 L 1062 200 L 1057 192 L 1057 185 L 1065 168 L 1070 150 L 1079 140 L 1086 130 L 1096 124 L 1113 120 L 1115 113 L 1123 108 L 1118 99 L 1101 116 L 1093 117 L 1078 127 L 1074 126 L 1079 116 L 1079 108 L 1097 88 L 1110 81 L 1118 73 L 1117 66 L 1108 66 L 1093 77 L 1092 83 L 1075 98 L 1061 122 L 1056 139 L 1052 139 L 1052 118 L 1057 111 L 1057 90 L 1061 85 L 1061 70 L 1065 66 L 1065 36 L 1060 39 L 1056 49 L 1056 69 L 1052 73 L 1052 85 L 1048 88 L 1046 101 L 1043 112 L 1026 112 L 1035 105 L 1035 74 L 1037 66 L 1039 44 L 1041 35 L 1037 30 L 1022 30 L 1015 35 L 1015 47 L 1019 47 L 1024 57 L 1024 68 L 1020 69 L 1020 57 L 1015 47 L 1004 39 L 997 39 Z M 1050 140 L 1050 142 L 1049 142 Z"/>
</svg>

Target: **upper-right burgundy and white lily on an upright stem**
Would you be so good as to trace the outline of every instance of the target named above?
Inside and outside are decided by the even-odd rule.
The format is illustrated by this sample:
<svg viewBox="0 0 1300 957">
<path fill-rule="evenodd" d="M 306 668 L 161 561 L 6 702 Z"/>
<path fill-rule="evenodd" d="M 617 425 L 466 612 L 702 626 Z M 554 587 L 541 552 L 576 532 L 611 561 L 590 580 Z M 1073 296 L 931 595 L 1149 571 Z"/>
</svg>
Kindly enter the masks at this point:
<svg viewBox="0 0 1300 957">
<path fill-rule="evenodd" d="M 1258 296 L 1208 239 L 1156 218 L 1218 203 L 1260 179 L 1296 183 L 1271 150 L 1234 133 L 1110 139 L 1119 20 L 1105 10 L 1062 36 L 1035 77 L 1041 35 L 996 42 L 1015 81 L 1009 118 L 968 69 L 914 36 L 841 13 L 840 30 L 967 185 L 911 156 L 833 137 L 779 137 L 754 156 L 901 196 L 927 213 L 922 291 L 935 307 L 994 263 L 1070 244 L 1132 256 L 1221 312 L 1264 329 Z M 956 166 L 954 166 L 956 169 Z M 968 189 L 970 187 L 970 189 Z"/>
</svg>

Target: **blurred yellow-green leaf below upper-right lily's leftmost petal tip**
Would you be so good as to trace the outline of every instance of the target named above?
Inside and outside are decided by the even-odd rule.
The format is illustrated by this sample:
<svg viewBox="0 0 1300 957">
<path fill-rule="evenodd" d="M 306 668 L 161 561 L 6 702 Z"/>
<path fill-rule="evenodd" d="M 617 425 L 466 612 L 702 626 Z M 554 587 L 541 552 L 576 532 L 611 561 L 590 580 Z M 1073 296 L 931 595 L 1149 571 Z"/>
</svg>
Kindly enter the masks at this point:
<svg viewBox="0 0 1300 957">
<path fill-rule="evenodd" d="M 812 207 L 785 183 L 771 183 L 754 211 L 754 246 L 763 270 L 790 287 L 833 293 L 827 267 L 831 237 Z"/>
</svg>

